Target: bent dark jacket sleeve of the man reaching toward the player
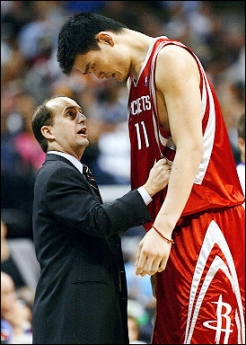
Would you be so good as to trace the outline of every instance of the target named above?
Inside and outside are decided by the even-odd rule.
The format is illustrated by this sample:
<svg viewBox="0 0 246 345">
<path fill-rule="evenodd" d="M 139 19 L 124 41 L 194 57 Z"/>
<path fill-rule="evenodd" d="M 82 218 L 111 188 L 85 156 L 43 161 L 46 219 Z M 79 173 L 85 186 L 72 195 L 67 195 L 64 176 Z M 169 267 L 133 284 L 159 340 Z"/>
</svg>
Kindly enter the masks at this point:
<svg viewBox="0 0 246 345">
<path fill-rule="evenodd" d="M 112 203 L 100 204 L 83 175 L 63 161 L 46 162 L 36 178 L 34 214 L 40 205 L 44 217 L 96 237 L 122 233 L 151 220 L 137 190 Z M 36 208 L 36 210 L 35 210 Z"/>
</svg>

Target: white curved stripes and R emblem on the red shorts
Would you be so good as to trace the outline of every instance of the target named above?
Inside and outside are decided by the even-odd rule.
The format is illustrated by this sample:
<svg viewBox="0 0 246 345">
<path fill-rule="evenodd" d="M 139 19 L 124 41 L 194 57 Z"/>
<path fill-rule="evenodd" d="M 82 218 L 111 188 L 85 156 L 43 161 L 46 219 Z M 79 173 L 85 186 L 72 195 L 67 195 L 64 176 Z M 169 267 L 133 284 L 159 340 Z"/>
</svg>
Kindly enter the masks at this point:
<svg viewBox="0 0 246 345">
<path fill-rule="evenodd" d="M 215 247 L 219 248 L 221 255 L 218 255 L 217 250 L 217 254 L 213 257 L 212 251 Z M 212 261 L 209 261 L 210 265 L 206 270 L 208 258 L 212 258 Z M 234 320 L 236 324 L 233 325 L 231 322 L 230 312 L 232 307 L 223 301 L 223 295 L 219 295 L 218 298 L 216 297 L 217 300 L 211 302 L 216 306 L 214 319 L 205 320 L 203 322 L 203 326 L 214 330 L 215 344 L 228 344 L 230 333 L 233 328 L 237 327 L 239 334 L 238 344 L 245 344 L 243 306 L 233 258 L 219 226 L 214 221 L 210 223 L 207 229 L 203 246 L 197 260 L 195 274 L 191 285 L 184 344 L 190 344 L 192 340 L 199 313 L 200 310 L 202 310 L 202 302 L 206 298 L 206 293 L 209 293 L 209 288 L 214 282 L 213 279 L 216 279 L 216 274 L 224 274 L 226 276 L 226 280 L 229 284 L 229 291 L 231 291 L 235 296 L 237 311 Z"/>
</svg>

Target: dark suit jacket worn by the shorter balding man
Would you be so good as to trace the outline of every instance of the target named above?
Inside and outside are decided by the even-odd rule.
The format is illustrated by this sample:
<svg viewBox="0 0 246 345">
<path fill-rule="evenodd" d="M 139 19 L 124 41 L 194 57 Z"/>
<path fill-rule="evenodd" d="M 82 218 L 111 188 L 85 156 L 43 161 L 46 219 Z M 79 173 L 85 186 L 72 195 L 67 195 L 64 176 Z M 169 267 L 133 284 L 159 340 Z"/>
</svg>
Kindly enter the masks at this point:
<svg viewBox="0 0 246 345">
<path fill-rule="evenodd" d="M 34 188 L 34 344 L 128 343 L 119 235 L 148 221 L 137 190 L 100 204 L 72 163 L 47 155 Z"/>
</svg>

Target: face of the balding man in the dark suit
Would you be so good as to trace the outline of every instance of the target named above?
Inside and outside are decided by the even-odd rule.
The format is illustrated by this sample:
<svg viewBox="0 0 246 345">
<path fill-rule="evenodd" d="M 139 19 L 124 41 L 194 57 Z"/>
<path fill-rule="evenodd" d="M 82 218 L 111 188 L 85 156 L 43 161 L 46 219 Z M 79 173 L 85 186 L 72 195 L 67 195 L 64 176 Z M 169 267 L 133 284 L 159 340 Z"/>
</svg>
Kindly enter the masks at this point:
<svg viewBox="0 0 246 345">
<path fill-rule="evenodd" d="M 54 114 L 53 125 L 42 128 L 49 141 L 48 151 L 69 153 L 80 160 L 89 145 L 86 117 L 81 107 L 68 97 L 51 99 L 46 105 Z"/>
</svg>

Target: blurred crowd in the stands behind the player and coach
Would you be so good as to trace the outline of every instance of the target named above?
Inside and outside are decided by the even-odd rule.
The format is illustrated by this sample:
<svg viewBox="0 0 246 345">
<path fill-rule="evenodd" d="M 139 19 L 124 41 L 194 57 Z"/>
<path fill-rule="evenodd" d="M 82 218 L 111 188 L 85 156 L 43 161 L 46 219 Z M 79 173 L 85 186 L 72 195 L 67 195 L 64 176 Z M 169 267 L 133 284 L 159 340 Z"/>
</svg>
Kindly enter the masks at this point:
<svg viewBox="0 0 246 345">
<path fill-rule="evenodd" d="M 18 245 L 13 246 L 16 239 L 26 240 L 28 246 L 32 244 L 33 185 L 45 154 L 32 134 L 31 118 L 35 108 L 51 95 L 64 94 L 82 106 L 90 140 L 83 159 L 98 184 L 128 186 L 130 183 L 125 83 L 97 80 L 75 71 L 67 77 L 56 61 L 60 27 L 68 16 L 80 11 L 102 13 L 131 29 L 153 37 L 166 35 L 191 47 L 215 86 L 235 163 L 240 161 L 236 123 L 245 112 L 245 2 L 1 1 L 1 218 L 4 237 L 14 248 L 13 253 L 19 250 Z M 122 244 L 129 277 L 129 315 L 139 326 L 139 339 L 135 341 L 148 343 L 155 300 L 149 279 L 141 278 L 139 283 L 132 275 L 135 240 L 141 235 L 142 229 L 129 231 Z M 14 255 L 13 258 L 8 255 L 2 258 L 1 266 L 13 282 L 6 276 L 3 281 L 11 289 L 13 283 L 20 287 L 20 281 L 30 288 L 23 270 L 19 271 L 19 281 L 13 273 L 19 270 L 21 259 L 16 264 Z M 13 262 L 12 266 L 6 265 L 10 258 L 15 261 L 15 271 Z M 33 271 L 37 269 L 34 262 L 35 259 Z M 1 279 L 1 295 L 2 290 Z M 24 300 L 31 308 L 32 295 L 27 298 L 23 289 L 16 291 L 17 300 Z M 30 332 L 29 328 L 26 331 L 23 327 L 23 332 Z M 2 342 L 21 343 L 1 338 Z"/>
</svg>

